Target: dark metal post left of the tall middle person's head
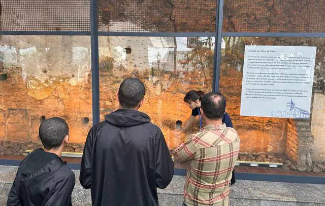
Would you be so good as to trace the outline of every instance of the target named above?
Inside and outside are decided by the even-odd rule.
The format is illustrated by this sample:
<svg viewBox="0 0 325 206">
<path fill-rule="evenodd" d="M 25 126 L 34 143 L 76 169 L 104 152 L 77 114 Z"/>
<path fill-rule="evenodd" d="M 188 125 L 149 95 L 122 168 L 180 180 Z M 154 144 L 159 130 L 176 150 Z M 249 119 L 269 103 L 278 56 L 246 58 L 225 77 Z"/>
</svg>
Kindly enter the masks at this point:
<svg viewBox="0 0 325 206">
<path fill-rule="evenodd" d="M 100 73 L 98 49 L 97 0 L 90 1 L 92 124 L 100 121 Z"/>
</svg>

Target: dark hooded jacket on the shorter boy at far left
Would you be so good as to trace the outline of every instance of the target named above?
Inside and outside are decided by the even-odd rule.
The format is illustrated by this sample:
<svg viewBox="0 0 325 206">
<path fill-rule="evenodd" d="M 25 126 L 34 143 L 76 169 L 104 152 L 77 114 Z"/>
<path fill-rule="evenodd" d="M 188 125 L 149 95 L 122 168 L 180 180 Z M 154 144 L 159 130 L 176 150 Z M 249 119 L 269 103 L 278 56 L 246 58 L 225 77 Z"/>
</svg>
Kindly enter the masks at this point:
<svg viewBox="0 0 325 206">
<path fill-rule="evenodd" d="M 7 206 L 62 206 L 71 204 L 75 175 L 56 154 L 36 149 L 18 168 Z"/>
</svg>

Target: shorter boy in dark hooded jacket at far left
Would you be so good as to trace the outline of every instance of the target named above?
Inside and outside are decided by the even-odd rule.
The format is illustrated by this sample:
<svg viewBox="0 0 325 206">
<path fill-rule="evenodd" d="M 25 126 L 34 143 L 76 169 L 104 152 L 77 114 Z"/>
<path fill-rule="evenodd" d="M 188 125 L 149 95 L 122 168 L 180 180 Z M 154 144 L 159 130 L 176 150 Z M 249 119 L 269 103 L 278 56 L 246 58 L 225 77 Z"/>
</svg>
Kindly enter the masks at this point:
<svg viewBox="0 0 325 206">
<path fill-rule="evenodd" d="M 7 206 L 71 206 L 75 175 L 60 158 L 69 141 L 69 127 L 61 118 L 41 123 L 39 136 L 44 150 L 32 151 L 18 168 Z"/>
</svg>

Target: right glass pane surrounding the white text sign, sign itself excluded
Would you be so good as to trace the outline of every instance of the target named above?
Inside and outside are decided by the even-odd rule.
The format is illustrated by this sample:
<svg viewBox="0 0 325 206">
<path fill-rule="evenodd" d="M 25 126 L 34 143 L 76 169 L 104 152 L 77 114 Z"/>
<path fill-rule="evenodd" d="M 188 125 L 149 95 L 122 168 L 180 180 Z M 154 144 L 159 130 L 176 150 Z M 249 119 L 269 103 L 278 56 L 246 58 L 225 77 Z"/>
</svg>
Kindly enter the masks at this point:
<svg viewBox="0 0 325 206">
<path fill-rule="evenodd" d="M 282 162 L 284 169 L 306 172 L 312 170 L 312 161 L 314 163 L 325 161 L 322 131 L 325 127 L 324 40 L 324 38 L 223 37 L 220 91 L 227 98 L 227 111 L 241 138 L 240 160 Z M 245 45 L 316 47 L 310 119 L 240 116 L 240 110 L 243 109 L 241 92 Z M 285 89 L 285 86 L 283 88 Z M 299 102 L 296 104 L 299 105 Z M 265 105 L 261 105 L 263 106 Z M 284 162 L 286 159 L 290 161 Z M 314 168 L 317 169 L 316 166 Z"/>
</svg>

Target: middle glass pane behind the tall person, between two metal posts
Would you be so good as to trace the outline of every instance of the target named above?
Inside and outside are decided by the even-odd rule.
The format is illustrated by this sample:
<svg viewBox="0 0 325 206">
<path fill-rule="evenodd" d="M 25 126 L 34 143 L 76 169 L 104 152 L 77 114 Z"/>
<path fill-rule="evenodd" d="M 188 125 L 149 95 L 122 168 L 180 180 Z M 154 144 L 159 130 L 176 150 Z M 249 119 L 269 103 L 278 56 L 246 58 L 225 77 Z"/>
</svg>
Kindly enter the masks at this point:
<svg viewBox="0 0 325 206">
<path fill-rule="evenodd" d="M 190 43 L 190 44 L 189 44 Z M 146 86 L 140 108 L 161 128 L 170 148 L 185 136 L 174 138 L 177 120 L 183 123 L 191 109 L 183 98 L 190 90 L 212 90 L 213 37 L 100 37 L 100 111 L 117 109 L 115 94 L 127 77 L 140 78 Z M 186 135 L 199 128 L 199 119 Z"/>
</svg>

